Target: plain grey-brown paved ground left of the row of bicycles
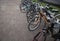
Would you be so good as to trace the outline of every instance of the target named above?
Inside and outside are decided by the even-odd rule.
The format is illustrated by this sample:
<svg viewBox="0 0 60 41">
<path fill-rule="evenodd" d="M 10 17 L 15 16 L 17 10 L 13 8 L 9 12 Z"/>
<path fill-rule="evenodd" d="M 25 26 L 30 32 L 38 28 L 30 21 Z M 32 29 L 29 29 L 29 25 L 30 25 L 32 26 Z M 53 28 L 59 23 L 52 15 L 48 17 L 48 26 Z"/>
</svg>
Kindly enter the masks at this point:
<svg viewBox="0 0 60 41">
<path fill-rule="evenodd" d="M 19 10 L 20 0 L 0 0 L 0 41 L 32 41 L 38 33 L 27 28 L 26 14 Z"/>
</svg>

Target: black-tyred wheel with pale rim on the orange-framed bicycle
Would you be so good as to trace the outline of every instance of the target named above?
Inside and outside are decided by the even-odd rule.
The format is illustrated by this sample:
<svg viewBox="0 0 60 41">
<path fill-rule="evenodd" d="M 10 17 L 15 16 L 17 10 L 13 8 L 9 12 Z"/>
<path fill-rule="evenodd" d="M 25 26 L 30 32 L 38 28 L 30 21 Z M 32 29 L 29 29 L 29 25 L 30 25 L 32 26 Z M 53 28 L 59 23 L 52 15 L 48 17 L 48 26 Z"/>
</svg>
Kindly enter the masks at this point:
<svg viewBox="0 0 60 41">
<path fill-rule="evenodd" d="M 29 29 L 30 31 L 36 30 L 36 29 L 39 27 L 40 22 L 41 22 L 41 17 L 40 17 L 40 15 L 38 15 L 38 17 L 33 17 L 33 18 L 31 19 L 31 21 L 29 22 L 29 24 L 28 24 L 28 29 Z"/>
</svg>

